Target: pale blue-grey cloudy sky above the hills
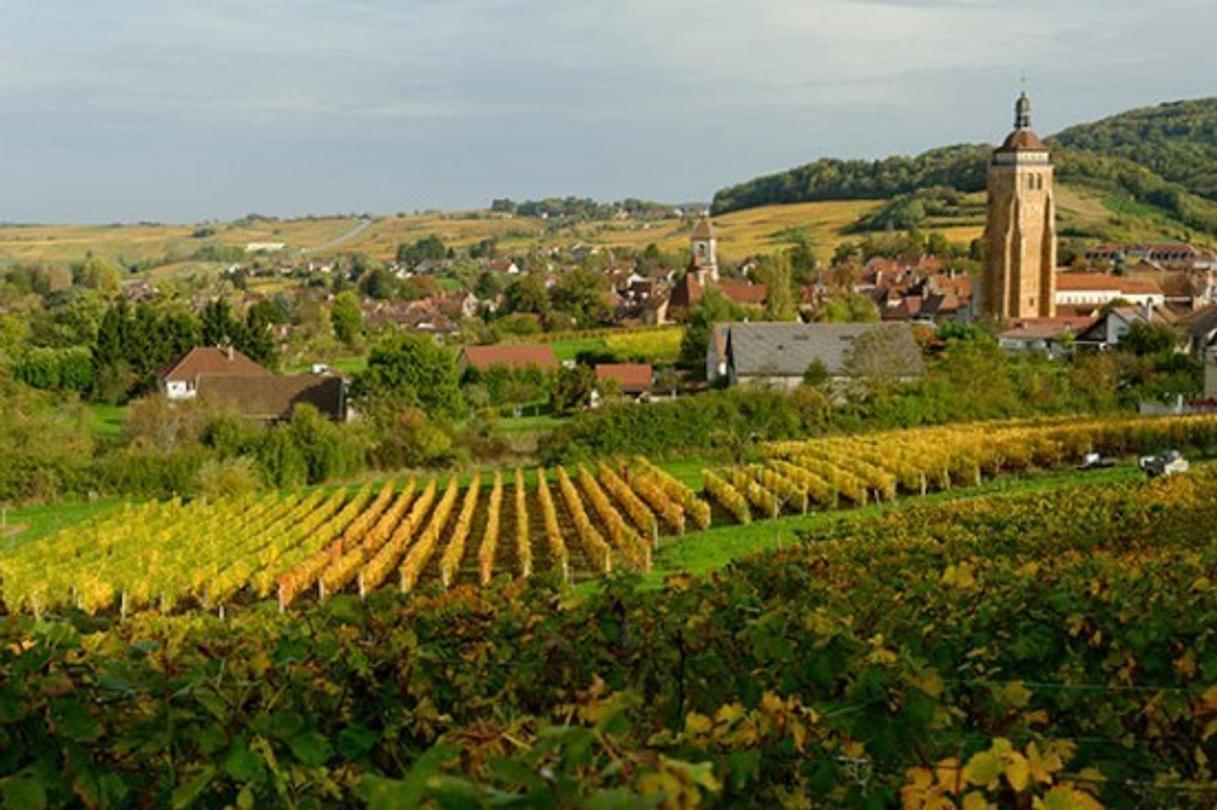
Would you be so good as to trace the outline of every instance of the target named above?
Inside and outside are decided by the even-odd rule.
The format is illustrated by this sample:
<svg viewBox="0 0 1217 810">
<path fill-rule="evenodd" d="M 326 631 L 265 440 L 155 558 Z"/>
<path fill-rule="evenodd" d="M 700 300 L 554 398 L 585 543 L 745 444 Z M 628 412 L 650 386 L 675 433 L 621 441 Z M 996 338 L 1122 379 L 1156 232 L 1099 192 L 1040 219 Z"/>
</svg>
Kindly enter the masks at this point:
<svg viewBox="0 0 1217 810">
<path fill-rule="evenodd" d="M 1180 24 L 1182 23 L 1182 24 Z M 574 195 L 1215 92 L 1212 0 L 2 0 L 0 221 Z"/>
</svg>

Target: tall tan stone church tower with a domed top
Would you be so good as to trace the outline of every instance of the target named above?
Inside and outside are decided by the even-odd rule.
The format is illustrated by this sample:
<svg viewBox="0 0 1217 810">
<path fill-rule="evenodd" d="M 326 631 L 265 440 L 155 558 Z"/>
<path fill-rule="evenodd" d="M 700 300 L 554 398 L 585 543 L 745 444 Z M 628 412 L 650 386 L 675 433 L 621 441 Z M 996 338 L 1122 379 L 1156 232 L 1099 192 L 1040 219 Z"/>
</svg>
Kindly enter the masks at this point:
<svg viewBox="0 0 1217 810">
<path fill-rule="evenodd" d="M 1031 101 L 1019 96 L 1014 131 L 988 165 L 981 317 L 1056 315 L 1056 198 L 1048 147 L 1031 130 Z"/>
</svg>

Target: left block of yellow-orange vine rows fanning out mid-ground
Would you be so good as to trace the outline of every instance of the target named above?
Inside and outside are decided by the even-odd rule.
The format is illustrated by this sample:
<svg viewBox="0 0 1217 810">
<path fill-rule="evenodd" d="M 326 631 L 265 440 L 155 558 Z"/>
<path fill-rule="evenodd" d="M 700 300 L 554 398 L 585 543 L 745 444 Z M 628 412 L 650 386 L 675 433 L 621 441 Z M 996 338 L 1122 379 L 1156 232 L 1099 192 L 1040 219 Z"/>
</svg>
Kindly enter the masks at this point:
<svg viewBox="0 0 1217 810">
<path fill-rule="evenodd" d="M 128 506 L 0 561 L 10 612 L 96 614 L 403 592 L 553 572 L 563 581 L 647 570 L 662 535 L 706 528 L 710 507 L 644 459 L 378 488 Z M 488 484 L 484 488 L 482 484 Z"/>
</svg>

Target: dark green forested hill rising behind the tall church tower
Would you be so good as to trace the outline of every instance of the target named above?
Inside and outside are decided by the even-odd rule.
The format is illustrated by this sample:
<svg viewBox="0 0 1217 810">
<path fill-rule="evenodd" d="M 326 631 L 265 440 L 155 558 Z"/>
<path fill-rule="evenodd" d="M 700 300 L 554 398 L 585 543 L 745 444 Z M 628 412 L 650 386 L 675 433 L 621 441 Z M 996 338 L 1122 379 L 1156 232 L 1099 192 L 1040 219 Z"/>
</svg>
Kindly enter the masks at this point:
<svg viewBox="0 0 1217 810">
<path fill-rule="evenodd" d="M 1135 109 L 1048 139 L 1060 181 L 1150 206 L 1180 225 L 1217 234 L 1217 99 Z M 957 145 L 881 161 L 821 158 L 714 195 L 713 212 L 821 199 L 905 197 L 876 219 L 908 226 L 910 195 L 985 187 L 988 145 Z M 915 214 L 915 210 L 913 212 Z M 863 229 L 867 224 L 859 224 Z"/>
</svg>

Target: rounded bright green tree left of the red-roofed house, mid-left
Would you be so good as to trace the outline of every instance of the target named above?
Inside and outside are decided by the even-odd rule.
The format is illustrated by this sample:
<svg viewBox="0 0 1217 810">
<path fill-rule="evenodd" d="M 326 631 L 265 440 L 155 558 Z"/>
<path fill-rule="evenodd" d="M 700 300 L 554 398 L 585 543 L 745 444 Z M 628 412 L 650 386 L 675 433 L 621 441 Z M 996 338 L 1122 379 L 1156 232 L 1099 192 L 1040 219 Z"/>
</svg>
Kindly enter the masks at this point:
<svg viewBox="0 0 1217 810">
<path fill-rule="evenodd" d="M 405 332 L 391 333 L 372 349 L 354 393 L 421 407 L 428 416 L 458 416 L 462 410 L 456 359 L 431 338 Z"/>
</svg>

